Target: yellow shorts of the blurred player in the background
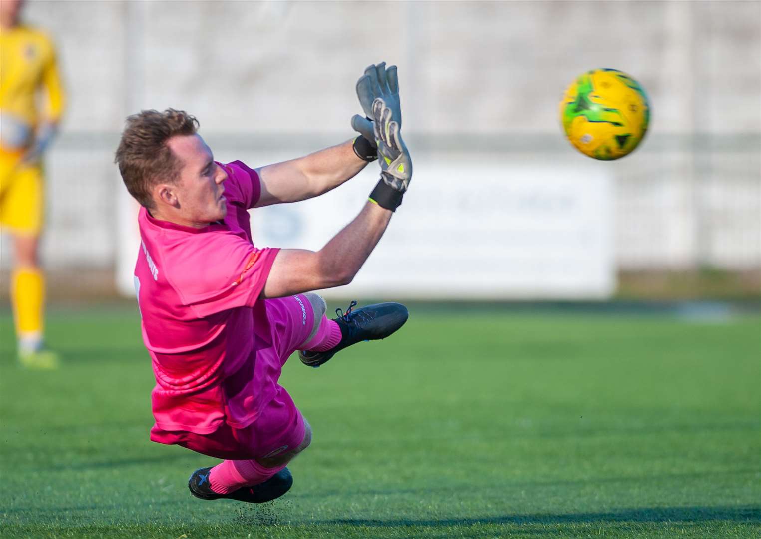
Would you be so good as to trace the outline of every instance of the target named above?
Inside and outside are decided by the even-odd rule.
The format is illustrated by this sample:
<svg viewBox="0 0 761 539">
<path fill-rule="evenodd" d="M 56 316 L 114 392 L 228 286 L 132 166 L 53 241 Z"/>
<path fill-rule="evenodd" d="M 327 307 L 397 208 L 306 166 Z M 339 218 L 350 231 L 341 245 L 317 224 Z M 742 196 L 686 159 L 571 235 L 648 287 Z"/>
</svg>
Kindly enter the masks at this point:
<svg viewBox="0 0 761 539">
<path fill-rule="evenodd" d="M 0 228 L 38 235 L 45 209 L 43 168 L 23 164 L 18 152 L 0 149 Z"/>
</svg>

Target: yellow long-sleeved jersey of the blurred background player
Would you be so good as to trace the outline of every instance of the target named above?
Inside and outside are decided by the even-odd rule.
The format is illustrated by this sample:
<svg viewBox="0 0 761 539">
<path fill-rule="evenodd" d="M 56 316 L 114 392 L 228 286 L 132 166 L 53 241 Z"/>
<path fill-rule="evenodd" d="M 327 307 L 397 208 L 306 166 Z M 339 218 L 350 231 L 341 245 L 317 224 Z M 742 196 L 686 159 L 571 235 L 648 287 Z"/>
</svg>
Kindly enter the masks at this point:
<svg viewBox="0 0 761 539">
<path fill-rule="evenodd" d="M 63 113 L 64 98 L 56 49 L 49 37 L 23 24 L 0 28 L 3 122 L 21 123 L 31 132 L 39 123 L 57 123 Z"/>
</svg>

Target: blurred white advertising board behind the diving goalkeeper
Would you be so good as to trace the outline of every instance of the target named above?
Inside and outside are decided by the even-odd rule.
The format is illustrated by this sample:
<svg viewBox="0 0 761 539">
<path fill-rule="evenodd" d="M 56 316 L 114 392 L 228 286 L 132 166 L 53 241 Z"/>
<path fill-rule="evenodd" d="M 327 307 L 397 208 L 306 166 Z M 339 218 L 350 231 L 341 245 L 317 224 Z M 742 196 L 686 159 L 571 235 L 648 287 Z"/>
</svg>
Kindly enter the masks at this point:
<svg viewBox="0 0 761 539">
<path fill-rule="evenodd" d="M 409 193 L 365 266 L 350 285 L 323 295 L 501 300 L 613 293 L 613 194 L 601 167 L 451 156 L 414 164 Z M 371 164 L 316 199 L 254 209 L 254 244 L 319 250 L 359 212 L 376 178 Z M 139 244 L 130 202 L 123 200 L 129 209 L 120 215 L 118 275 L 127 295 L 134 293 Z"/>
</svg>

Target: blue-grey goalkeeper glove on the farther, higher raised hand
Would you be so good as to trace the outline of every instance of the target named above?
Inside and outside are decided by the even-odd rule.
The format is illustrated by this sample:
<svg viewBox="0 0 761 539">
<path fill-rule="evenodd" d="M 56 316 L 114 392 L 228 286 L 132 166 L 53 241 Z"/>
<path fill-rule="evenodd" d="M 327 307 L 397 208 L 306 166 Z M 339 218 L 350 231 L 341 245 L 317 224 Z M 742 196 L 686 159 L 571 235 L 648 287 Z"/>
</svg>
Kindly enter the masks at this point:
<svg viewBox="0 0 761 539">
<path fill-rule="evenodd" d="M 391 110 L 392 120 L 402 127 L 402 110 L 399 100 L 399 80 L 396 76 L 396 65 L 386 69 L 386 62 L 378 65 L 369 65 L 357 81 L 357 97 L 365 116 L 355 114 L 352 116 L 352 129 L 365 137 L 371 145 L 374 145 L 374 133 L 372 125 L 373 101 L 380 97 Z M 374 148 L 373 148 L 374 149 Z"/>
</svg>

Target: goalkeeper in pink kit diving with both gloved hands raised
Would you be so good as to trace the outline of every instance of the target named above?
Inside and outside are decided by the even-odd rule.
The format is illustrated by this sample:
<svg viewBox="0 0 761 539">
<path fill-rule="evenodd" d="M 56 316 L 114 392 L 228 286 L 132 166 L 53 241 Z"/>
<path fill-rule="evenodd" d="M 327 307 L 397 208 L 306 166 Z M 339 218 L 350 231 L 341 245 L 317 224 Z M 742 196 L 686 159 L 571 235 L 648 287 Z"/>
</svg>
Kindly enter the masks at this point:
<svg viewBox="0 0 761 539">
<path fill-rule="evenodd" d="M 286 465 L 311 429 L 279 385 L 298 351 L 317 367 L 346 346 L 398 330 L 398 303 L 329 320 L 318 289 L 348 284 L 380 240 L 412 177 L 401 136 L 396 68 L 371 65 L 357 83 L 356 139 L 250 168 L 222 164 L 180 110 L 129 116 L 116 163 L 138 200 L 135 289 L 153 363 L 151 440 L 224 459 L 189 489 L 202 499 L 266 502 L 293 479 Z M 319 196 L 378 158 L 380 181 L 357 217 L 318 251 L 259 248 L 249 209 Z"/>
</svg>

